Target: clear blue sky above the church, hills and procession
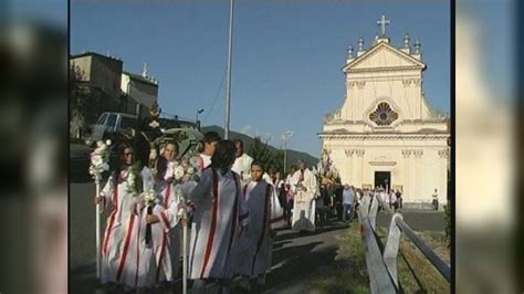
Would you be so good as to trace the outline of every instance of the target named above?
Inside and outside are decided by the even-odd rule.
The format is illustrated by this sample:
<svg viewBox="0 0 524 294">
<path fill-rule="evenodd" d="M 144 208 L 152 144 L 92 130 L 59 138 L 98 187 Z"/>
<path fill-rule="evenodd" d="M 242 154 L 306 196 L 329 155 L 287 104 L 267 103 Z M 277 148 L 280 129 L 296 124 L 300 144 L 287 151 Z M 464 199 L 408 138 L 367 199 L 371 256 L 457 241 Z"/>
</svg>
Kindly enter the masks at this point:
<svg viewBox="0 0 524 294">
<path fill-rule="evenodd" d="M 290 148 L 318 155 L 323 117 L 342 106 L 340 71 L 358 36 L 368 48 L 381 14 L 394 45 L 419 36 L 426 97 L 450 111 L 450 9 L 447 1 L 404 4 L 305 1 L 237 1 L 234 10 L 231 129 L 273 137 L 294 130 Z M 224 124 L 229 1 L 102 3 L 72 1 L 71 52 L 124 61 L 124 70 L 159 80 L 164 112 L 205 125 Z M 211 105 L 214 106 L 211 108 Z"/>
</svg>

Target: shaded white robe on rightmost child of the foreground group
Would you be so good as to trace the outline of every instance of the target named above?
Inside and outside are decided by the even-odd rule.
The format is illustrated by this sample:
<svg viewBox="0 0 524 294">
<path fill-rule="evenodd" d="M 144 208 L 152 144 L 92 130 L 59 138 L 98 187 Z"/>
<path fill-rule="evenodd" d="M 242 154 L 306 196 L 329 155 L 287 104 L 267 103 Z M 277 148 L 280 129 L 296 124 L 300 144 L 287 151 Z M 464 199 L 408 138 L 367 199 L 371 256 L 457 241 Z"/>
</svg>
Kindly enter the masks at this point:
<svg viewBox="0 0 524 294">
<path fill-rule="evenodd" d="M 234 273 L 256 277 L 271 269 L 273 239 L 270 231 L 283 219 L 282 208 L 273 186 L 264 180 L 251 181 L 242 192 L 248 202 L 250 225 L 233 250 Z"/>
</svg>

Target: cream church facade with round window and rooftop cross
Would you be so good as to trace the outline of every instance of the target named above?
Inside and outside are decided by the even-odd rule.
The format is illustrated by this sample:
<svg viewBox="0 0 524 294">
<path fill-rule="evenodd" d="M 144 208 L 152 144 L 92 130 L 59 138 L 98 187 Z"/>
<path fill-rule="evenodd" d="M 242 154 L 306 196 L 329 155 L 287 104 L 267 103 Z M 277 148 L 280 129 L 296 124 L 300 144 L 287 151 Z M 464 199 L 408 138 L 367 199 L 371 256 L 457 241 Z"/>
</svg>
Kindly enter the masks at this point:
<svg viewBox="0 0 524 294">
<path fill-rule="evenodd" d="M 369 49 L 358 40 L 343 67 L 343 106 L 324 117 L 319 138 L 342 183 L 402 191 L 405 203 L 447 202 L 449 117 L 425 98 L 427 69 L 417 39 L 394 46 L 382 30 Z M 356 53 L 356 54 L 355 54 Z"/>
</svg>

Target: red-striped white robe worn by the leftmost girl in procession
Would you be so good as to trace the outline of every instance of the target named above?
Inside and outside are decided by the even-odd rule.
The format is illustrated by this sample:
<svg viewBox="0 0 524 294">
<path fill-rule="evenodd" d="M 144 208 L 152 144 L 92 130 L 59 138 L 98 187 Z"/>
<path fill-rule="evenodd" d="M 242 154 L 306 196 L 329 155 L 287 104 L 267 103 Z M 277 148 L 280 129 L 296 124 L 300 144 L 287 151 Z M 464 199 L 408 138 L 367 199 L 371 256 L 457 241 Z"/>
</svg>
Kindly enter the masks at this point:
<svg viewBox="0 0 524 294">
<path fill-rule="evenodd" d="M 111 210 L 101 246 L 101 279 L 102 283 L 116 282 L 135 287 L 140 286 L 138 276 L 142 266 L 137 263 L 142 218 L 139 197 L 129 192 L 127 175 L 127 170 L 120 172 L 116 189 L 115 175 L 111 176 L 101 191 L 104 209 Z"/>
</svg>

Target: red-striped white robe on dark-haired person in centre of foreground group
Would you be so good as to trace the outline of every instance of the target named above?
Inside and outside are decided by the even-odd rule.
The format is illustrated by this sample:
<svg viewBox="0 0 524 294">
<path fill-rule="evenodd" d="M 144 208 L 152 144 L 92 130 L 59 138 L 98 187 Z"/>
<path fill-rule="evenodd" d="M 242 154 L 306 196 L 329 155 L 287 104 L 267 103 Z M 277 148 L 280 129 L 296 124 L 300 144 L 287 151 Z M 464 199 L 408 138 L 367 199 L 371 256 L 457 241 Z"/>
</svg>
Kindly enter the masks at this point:
<svg viewBox="0 0 524 294">
<path fill-rule="evenodd" d="M 189 279 L 231 277 L 230 249 L 237 241 L 239 227 L 249 221 L 239 176 L 231 170 L 221 175 L 212 168 L 206 169 L 189 201 L 195 211 Z"/>
</svg>

